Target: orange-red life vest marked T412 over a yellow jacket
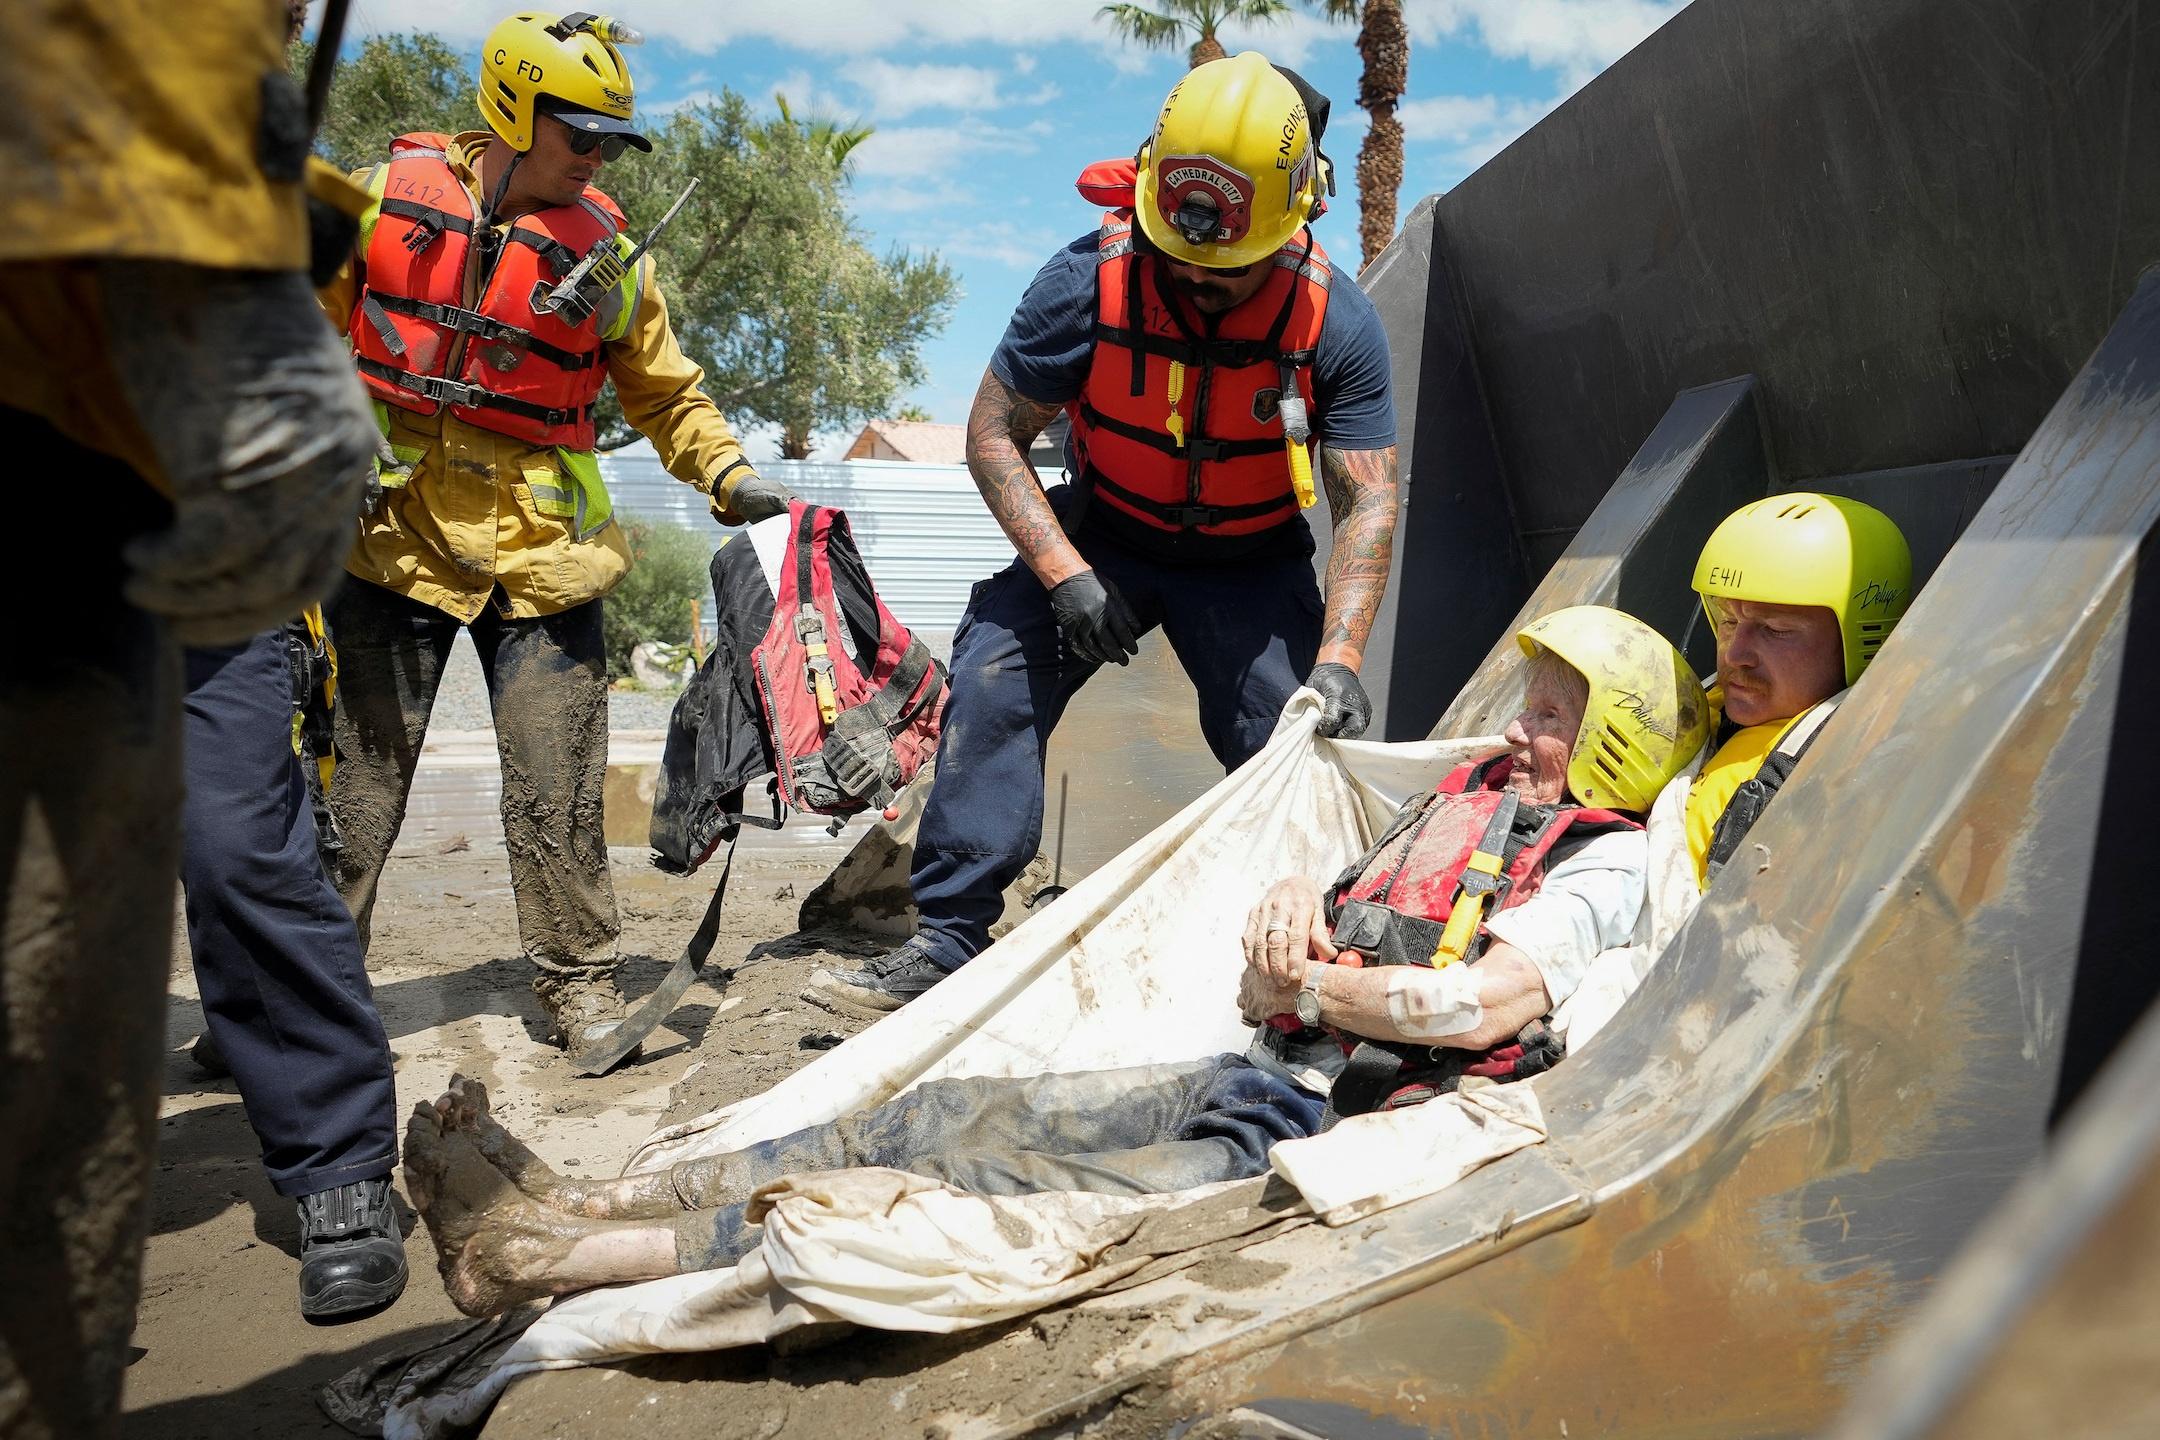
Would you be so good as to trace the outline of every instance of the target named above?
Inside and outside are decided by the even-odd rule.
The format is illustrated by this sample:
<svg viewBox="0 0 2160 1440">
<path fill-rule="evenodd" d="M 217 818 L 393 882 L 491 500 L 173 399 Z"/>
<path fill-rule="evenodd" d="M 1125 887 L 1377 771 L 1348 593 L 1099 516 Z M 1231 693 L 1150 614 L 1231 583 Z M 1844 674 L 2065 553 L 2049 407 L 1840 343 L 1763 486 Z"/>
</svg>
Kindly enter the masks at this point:
<svg viewBox="0 0 2160 1440">
<path fill-rule="evenodd" d="M 464 307 L 473 259 L 473 194 L 449 168 L 449 138 L 391 142 L 365 279 L 348 322 L 361 380 L 376 399 L 527 440 L 592 449 L 592 402 L 607 382 L 600 345 L 618 307 L 583 324 L 534 309 L 592 246 L 622 231 L 594 190 L 577 205 L 518 216 L 482 296 Z M 460 348 L 462 341 L 462 348 Z M 456 376 L 451 363 L 456 361 Z"/>
</svg>

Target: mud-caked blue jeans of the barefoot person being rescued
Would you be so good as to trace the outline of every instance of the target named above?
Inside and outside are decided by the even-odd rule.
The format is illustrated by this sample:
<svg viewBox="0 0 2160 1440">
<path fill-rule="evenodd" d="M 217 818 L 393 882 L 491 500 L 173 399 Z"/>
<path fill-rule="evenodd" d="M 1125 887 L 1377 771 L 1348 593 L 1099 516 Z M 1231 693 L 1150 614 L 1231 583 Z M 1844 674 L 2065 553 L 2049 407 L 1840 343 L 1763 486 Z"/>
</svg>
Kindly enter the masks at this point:
<svg viewBox="0 0 2160 1440">
<path fill-rule="evenodd" d="M 1320 1129 L 1322 1101 L 1212 1056 L 1026 1079 L 933 1079 L 875 1110 L 674 1168 L 683 1269 L 732 1265 L 758 1244 L 752 1192 L 788 1174 L 886 1166 L 991 1196 L 1164 1194 L 1240 1181 L 1268 1146 Z"/>
</svg>

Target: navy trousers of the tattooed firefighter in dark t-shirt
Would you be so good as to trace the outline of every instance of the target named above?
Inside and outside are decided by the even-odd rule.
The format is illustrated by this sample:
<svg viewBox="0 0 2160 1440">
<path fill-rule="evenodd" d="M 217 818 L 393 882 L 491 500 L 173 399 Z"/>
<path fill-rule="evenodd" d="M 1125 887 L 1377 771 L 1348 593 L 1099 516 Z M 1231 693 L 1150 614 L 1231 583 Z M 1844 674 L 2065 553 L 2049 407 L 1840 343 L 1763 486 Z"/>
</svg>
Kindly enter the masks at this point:
<svg viewBox="0 0 2160 1440">
<path fill-rule="evenodd" d="M 1251 760 L 1320 650 L 1311 557 L 1173 566 L 1086 533 L 1076 544 L 1143 630 L 1162 626 L 1223 771 Z M 946 969 L 989 943 L 1004 887 L 1035 859 L 1050 732 L 1095 669 L 1061 646 L 1050 592 L 1026 563 L 974 587 L 953 635 L 953 697 L 909 872 L 916 935 Z"/>
</svg>

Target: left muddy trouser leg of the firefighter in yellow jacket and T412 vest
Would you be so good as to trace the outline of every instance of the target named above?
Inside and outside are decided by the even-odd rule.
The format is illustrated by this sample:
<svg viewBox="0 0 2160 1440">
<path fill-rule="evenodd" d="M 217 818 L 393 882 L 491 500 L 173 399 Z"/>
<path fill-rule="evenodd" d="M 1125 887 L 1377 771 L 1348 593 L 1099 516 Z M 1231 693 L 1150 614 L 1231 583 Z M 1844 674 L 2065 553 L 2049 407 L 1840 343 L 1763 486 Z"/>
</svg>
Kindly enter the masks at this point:
<svg viewBox="0 0 2160 1440">
<path fill-rule="evenodd" d="M 330 814 L 346 838 L 330 879 L 367 948 L 376 885 L 404 825 L 428 712 L 458 639 L 451 615 L 346 576 L 324 607 L 337 646 L 337 773 Z"/>
</svg>

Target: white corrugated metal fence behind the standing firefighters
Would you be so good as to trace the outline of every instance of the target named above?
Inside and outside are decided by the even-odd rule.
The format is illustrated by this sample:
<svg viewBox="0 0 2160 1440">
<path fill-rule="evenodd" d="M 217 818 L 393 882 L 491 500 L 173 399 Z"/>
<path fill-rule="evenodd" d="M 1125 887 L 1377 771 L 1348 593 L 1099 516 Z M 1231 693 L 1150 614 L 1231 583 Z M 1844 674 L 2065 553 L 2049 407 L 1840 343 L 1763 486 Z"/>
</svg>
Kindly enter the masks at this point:
<svg viewBox="0 0 2160 1440">
<path fill-rule="evenodd" d="M 905 460 L 775 460 L 758 466 L 806 501 L 838 505 L 877 579 L 877 594 L 907 626 L 950 635 L 968 589 L 1013 559 L 1013 546 L 983 507 L 968 468 Z M 600 456 L 616 510 L 683 525 L 719 542 L 704 497 L 631 447 Z M 706 620 L 711 626 L 711 617 Z"/>
</svg>

